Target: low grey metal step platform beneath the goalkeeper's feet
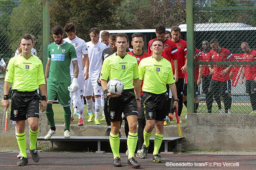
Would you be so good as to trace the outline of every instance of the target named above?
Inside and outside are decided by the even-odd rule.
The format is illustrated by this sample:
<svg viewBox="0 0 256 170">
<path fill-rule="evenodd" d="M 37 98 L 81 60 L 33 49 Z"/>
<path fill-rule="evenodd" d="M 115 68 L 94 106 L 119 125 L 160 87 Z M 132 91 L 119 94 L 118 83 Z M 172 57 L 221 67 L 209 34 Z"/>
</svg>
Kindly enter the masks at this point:
<svg viewBox="0 0 256 170">
<path fill-rule="evenodd" d="M 182 137 L 183 138 L 183 137 Z M 178 140 L 182 139 L 180 137 L 163 137 L 164 142 L 164 151 L 168 152 L 168 142 L 175 141 L 175 147 L 178 147 Z M 120 137 L 120 141 L 125 142 L 127 140 L 126 137 Z M 98 151 L 101 151 L 101 142 L 108 142 L 108 136 L 70 136 L 70 138 L 64 138 L 64 136 L 52 136 L 50 139 L 44 139 L 44 137 L 38 137 L 38 141 L 50 141 L 50 147 L 53 147 L 54 141 L 91 141 L 97 142 Z M 154 137 L 152 136 L 149 140 L 150 142 L 154 142 Z"/>
</svg>

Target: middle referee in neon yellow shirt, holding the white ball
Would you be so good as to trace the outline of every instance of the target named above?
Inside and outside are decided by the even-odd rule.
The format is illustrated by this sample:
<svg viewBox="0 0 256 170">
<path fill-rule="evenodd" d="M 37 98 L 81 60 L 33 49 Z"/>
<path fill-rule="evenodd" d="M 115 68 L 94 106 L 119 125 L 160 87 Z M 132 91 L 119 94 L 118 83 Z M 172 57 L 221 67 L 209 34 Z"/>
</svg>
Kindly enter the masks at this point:
<svg viewBox="0 0 256 170">
<path fill-rule="evenodd" d="M 138 139 L 137 117 L 141 100 L 138 63 L 135 57 L 126 54 L 126 48 L 129 44 L 127 34 L 117 34 L 115 43 L 117 51 L 104 60 L 100 77 L 105 100 L 108 100 L 108 108 L 105 109 L 108 109 L 108 114 L 110 114 L 111 133 L 109 142 L 114 156 L 113 165 L 116 167 L 122 166 L 119 155 L 119 129 L 123 112 L 129 124 L 127 164 L 133 167 L 140 167 L 140 164 L 134 159 Z M 120 79 L 123 82 L 124 91 L 122 94 L 113 95 L 108 92 L 108 77 L 110 80 Z"/>
</svg>

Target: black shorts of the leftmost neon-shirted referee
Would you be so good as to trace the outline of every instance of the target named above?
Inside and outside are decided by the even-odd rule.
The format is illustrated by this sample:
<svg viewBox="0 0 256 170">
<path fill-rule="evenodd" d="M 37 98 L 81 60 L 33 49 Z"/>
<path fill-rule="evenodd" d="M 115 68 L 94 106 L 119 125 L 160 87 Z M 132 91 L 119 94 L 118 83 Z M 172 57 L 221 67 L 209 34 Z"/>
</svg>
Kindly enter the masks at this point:
<svg viewBox="0 0 256 170">
<path fill-rule="evenodd" d="M 11 120 L 26 120 L 29 117 L 39 118 L 39 100 L 37 91 L 12 92 Z"/>
</svg>

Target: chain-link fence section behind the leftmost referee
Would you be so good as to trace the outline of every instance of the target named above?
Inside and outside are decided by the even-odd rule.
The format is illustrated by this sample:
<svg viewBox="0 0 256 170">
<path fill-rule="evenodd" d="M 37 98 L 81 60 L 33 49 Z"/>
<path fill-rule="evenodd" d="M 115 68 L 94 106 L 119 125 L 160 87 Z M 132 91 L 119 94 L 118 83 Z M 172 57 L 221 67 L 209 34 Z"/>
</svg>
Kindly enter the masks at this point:
<svg viewBox="0 0 256 170">
<path fill-rule="evenodd" d="M 38 1 L 38 0 L 35 0 Z M 36 55 L 42 60 L 42 2 L 22 4 L 15 1 L 0 1 L 0 65 L 15 56 L 15 51 L 24 34 L 35 36 Z M 2 68 L 2 67 L 0 67 Z M 0 73 L 0 99 L 3 98 L 3 83 L 6 71 Z M 10 108 L 9 108 L 10 110 Z M 3 108 L 0 107 L 0 112 Z"/>
</svg>

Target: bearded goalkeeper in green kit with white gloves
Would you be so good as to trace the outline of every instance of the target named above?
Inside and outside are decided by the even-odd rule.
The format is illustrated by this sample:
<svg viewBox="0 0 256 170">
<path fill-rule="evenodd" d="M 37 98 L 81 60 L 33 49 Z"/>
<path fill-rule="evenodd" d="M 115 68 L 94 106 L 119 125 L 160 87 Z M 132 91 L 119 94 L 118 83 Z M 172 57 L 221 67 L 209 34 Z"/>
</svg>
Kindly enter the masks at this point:
<svg viewBox="0 0 256 170">
<path fill-rule="evenodd" d="M 48 45 L 48 61 L 45 69 L 45 77 L 48 79 L 47 84 L 47 109 L 46 116 L 50 124 L 50 130 L 44 139 L 50 139 L 55 133 L 56 127 L 54 122 L 54 112 L 52 102 L 57 96 L 57 101 L 64 109 L 65 129 L 64 137 L 70 138 L 70 92 L 74 93 L 79 89 L 77 77 L 79 68 L 76 57 L 75 47 L 63 40 L 63 28 L 55 26 L 52 29 L 52 35 L 55 42 Z M 73 64 L 74 78 L 71 83 L 70 63 Z M 69 89 L 68 89 L 69 88 Z"/>
</svg>

